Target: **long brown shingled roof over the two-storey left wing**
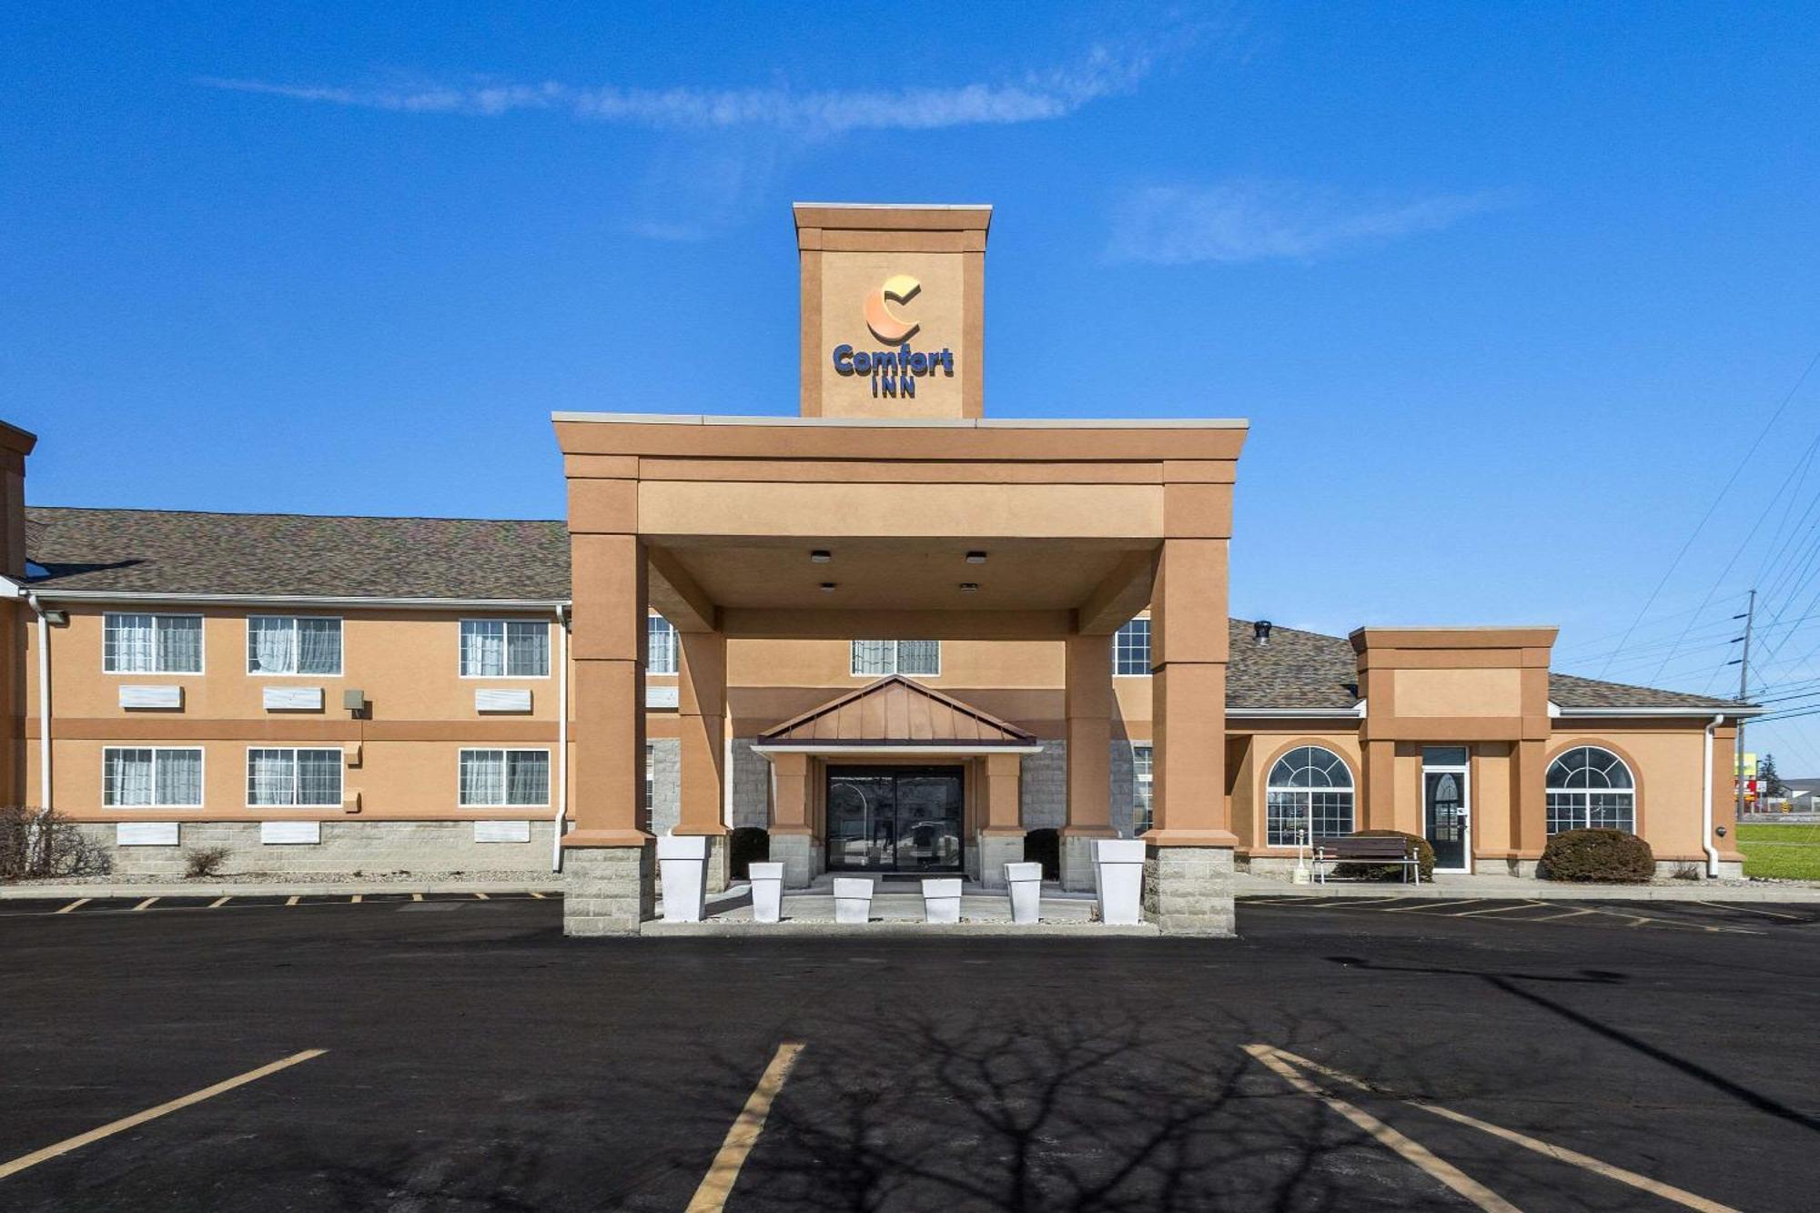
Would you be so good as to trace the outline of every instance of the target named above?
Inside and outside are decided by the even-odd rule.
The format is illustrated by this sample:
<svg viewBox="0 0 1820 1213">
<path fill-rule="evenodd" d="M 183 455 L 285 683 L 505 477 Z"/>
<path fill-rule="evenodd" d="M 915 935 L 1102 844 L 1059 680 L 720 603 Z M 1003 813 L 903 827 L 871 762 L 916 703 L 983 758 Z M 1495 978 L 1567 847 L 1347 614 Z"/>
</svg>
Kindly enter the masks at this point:
<svg viewBox="0 0 1820 1213">
<path fill-rule="evenodd" d="M 29 506 L 47 590 L 562 601 L 568 530 L 550 521 Z M 31 570 L 36 574 L 36 570 Z"/>
</svg>

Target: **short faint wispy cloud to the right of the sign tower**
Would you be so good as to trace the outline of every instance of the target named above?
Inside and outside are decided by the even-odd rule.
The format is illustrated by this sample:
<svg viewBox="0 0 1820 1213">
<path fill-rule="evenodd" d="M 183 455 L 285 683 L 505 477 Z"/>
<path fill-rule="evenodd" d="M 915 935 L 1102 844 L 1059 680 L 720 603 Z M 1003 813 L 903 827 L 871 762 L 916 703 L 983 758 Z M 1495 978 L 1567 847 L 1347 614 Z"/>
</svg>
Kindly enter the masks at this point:
<svg viewBox="0 0 1820 1213">
<path fill-rule="evenodd" d="M 1509 191 L 1361 202 L 1270 180 L 1152 186 L 1119 204 L 1107 257 L 1159 266 L 1312 260 L 1360 244 L 1440 231 L 1512 202 Z"/>
</svg>

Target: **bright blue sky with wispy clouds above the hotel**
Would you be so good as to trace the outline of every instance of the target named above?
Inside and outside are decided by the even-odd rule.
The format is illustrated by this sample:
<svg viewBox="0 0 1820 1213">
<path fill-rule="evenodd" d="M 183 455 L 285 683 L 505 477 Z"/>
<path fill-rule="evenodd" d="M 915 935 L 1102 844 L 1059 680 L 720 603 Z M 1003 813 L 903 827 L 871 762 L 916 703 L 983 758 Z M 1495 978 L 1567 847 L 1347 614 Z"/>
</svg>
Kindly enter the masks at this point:
<svg viewBox="0 0 1820 1213">
<path fill-rule="evenodd" d="M 794 199 L 992 202 L 988 412 L 1252 421 L 1236 614 L 1820 676 L 1813 5 L 379 9 L 4 18 L 31 501 L 555 517 L 794 412 Z"/>
</svg>

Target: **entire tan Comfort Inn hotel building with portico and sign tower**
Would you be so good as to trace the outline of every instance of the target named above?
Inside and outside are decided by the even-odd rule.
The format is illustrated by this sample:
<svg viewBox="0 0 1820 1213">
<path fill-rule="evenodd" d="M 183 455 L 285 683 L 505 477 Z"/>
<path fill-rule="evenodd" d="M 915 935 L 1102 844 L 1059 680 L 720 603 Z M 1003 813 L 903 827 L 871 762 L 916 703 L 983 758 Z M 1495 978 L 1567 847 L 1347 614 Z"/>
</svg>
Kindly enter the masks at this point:
<svg viewBox="0 0 1820 1213">
<path fill-rule="evenodd" d="M 1243 421 L 990 419 L 990 208 L 795 208 L 794 417 L 559 413 L 564 521 L 25 505 L 0 428 L 7 794 L 120 872 L 561 869 L 652 914 L 653 836 L 786 882 L 1148 845 L 1147 914 L 1400 829 L 1534 874 L 1613 825 L 1736 874 L 1733 701 L 1554 674 L 1554 628 L 1230 619 Z"/>
</svg>

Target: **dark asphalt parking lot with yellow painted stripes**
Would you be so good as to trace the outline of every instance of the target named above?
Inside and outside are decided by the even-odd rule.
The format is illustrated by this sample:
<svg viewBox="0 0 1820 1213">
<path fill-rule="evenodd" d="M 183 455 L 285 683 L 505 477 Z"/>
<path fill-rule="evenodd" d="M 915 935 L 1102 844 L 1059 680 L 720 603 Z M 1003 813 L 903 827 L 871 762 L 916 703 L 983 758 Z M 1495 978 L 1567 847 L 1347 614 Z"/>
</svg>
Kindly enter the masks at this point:
<svg viewBox="0 0 1820 1213">
<path fill-rule="evenodd" d="M 0 907 L 0 1208 L 1795 1209 L 1820 1180 L 1809 907 L 1258 900 L 1239 940 L 874 943 L 140 902 Z"/>
</svg>

